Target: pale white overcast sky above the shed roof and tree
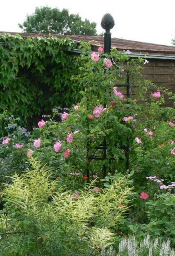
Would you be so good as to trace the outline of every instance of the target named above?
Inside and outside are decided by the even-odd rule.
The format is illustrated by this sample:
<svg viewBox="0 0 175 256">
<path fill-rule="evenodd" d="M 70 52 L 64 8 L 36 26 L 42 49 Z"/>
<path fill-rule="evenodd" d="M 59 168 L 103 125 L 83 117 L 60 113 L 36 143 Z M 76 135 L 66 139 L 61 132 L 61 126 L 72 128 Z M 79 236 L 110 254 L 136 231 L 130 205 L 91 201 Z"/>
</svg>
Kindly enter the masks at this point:
<svg viewBox="0 0 175 256">
<path fill-rule="evenodd" d="M 175 0 L 0 0 L 0 31 L 21 32 L 18 23 L 36 7 L 49 6 L 71 14 L 79 14 L 84 20 L 97 23 L 101 33 L 101 18 L 110 13 L 115 21 L 112 37 L 135 41 L 172 45 L 175 38 Z"/>
</svg>

